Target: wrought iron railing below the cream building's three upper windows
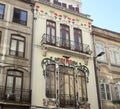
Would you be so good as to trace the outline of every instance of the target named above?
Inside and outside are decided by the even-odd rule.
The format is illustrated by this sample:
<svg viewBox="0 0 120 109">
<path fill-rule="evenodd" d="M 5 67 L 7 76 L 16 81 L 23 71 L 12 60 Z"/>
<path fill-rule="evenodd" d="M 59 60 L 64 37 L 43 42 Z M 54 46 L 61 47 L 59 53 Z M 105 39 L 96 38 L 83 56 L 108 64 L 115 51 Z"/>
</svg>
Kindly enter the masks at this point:
<svg viewBox="0 0 120 109">
<path fill-rule="evenodd" d="M 69 39 L 60 38 L 56 36 L 50 36 L 47 34 L 43 34 L 41 44 L 48 44 L 48 45 L 56 46 L 63 49 L 81 52 L 88 55 L 90 55 L 92 52 L 90 50 L 89 45 L 87 44 L 83 44 L 77 41 L 72 41 Z"/>
</svg>

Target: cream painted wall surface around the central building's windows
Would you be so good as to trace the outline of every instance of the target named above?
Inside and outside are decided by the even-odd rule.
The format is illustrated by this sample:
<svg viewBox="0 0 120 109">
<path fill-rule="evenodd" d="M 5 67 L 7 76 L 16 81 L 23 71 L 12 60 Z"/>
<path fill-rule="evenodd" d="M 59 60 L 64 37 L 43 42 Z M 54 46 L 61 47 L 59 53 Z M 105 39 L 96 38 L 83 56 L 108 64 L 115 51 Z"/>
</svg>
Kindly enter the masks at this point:
<svg viewBox="0 0 120 109">
<path fill-rule="evenodd" d="M 51 51 L 48 50 L 46 57 L 43 57 L 43 50 L 41 49 L 40 41 L 42 40 L 42 35 L 46 32 L 46 20 L 53 20 L 56 22 L 56 35 L 57 37 L 60 37 L 60 24 L 67 24 L 70 27 L 70 38 L 73 40 L 73 28 L 80 28 L 82 30 L 82 37 L 83 37 L 83 43 L 90 45 L 90 48 L 92 49 L 92 37 L 90 35 L 91 29 L 87 26 L 84 26 L 84 24 L 88 24 L 88 22 L 91 22 L 90 19 L 80 17 L 78 15 L 67 13 L 63 10 L 55 9 L 53 7 L 49 7 L 47 5 L 43 4 L 36 4 L 36 6 L 39 6 L 40 10 L 44 10 L 44 12 L 47 12 L 46 14 L 36 13 L 35 17 L 37 18 L 35 20 L 35 30 L 34 30 L 34 44 L 33 44 L 33 69 L 32 69 L 32 105 L 36 106 L 43 106 L 43 98 L 45 98 L 45 79 L 43 76 L 43 70 L 41 67 L 41 61 L 43 58 L 50 58 L 50 57 L 62 57 L 63 55 L 71 55 L 69 52 L 62 52 L 62 51 Z M 71 18 L 79 19 L 79 22 L 76 21 L 74 24 L 70 24 L 67 20 L 63 19 L 58 20 L 54 18 L 54 14 L 51 14 L 50 11 L 59 13 L 62 16 L 66 15 Z M 83 26 L 81 26 L 81 23 Z M 49 49 L 49 47 L 48 47 Z M 71 60 L 74 60 L 76 62 L 80 62 L 82 65 L 84 65 L 84 58 L 81 57 L 81 55 L 76 55 L 72 53 Z M 98 109 L 97 104 L 97 95 L 96 95 L 96 84 L 95 84 L 95 75 L 94 75 L 94 67 L 93 67 L 93 59 L 90 57 L 89 63 L 87 65 L 90 71 L 89 75 L 89 83 L 87 84 L 87 91 L 88 91 L 88 103 L 91 105 L 91 109 Z"/>
</svg>

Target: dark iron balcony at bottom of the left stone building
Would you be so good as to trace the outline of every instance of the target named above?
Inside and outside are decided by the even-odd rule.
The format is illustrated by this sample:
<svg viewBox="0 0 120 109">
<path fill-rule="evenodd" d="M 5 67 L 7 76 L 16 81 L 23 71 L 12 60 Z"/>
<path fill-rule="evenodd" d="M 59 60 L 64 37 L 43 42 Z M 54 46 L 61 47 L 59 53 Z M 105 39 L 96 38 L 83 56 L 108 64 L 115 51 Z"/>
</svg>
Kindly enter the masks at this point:
<svg viewBox="0 0 120 109">
<path fill-rule="evenodd" d="M 8 93 L 12 88 L 5 89 L 4 86 L 0 86 L 0 102 L 30 104 L 31 103 L 31 91 L 28 89 L 15 89 L 16 93 Z"/>
</svg>

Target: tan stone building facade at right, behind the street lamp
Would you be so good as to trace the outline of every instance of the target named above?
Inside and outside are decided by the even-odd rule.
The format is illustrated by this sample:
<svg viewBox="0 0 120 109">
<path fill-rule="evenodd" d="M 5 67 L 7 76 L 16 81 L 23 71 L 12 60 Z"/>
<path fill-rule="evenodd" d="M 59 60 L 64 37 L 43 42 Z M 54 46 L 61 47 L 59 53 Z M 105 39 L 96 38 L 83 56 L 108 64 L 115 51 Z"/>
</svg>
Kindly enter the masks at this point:
<svg viewBox="0 0 120 109">
<path fill-rule="evenodd" d="M 120 33 L 93 26 L 102 109 L 120 109 Z"/>
</svg>

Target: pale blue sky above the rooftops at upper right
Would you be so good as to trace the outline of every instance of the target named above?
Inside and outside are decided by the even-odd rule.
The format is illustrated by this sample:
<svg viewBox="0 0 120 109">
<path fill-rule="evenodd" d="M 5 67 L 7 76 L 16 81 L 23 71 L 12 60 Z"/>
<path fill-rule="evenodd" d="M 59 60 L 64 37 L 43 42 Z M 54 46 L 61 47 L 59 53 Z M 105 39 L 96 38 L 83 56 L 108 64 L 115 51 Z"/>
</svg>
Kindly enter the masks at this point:
<svg viewBox="0 0 120 109">
<path fill-rule="evenodd" d="M 120 33 L 120 0 L 81 0 L 82 13 L 90 15 L 93 25 Z"/>
</svg>

